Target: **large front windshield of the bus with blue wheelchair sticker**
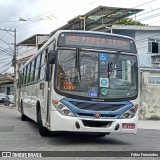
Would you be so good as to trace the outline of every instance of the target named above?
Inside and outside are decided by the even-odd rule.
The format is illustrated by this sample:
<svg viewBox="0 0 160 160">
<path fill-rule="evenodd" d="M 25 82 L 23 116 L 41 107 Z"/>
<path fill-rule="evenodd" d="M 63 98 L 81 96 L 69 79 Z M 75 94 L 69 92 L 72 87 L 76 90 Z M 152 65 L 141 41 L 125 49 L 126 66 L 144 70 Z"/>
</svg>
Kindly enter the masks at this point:
<svg viewBox="0 0 160 160">
<path fill-rule="evenodd" d="M 58 50 L 56 87 L 59 91 L 83 97 L 132 98 L 138 91 L 135 55 Z"/>
</svg>

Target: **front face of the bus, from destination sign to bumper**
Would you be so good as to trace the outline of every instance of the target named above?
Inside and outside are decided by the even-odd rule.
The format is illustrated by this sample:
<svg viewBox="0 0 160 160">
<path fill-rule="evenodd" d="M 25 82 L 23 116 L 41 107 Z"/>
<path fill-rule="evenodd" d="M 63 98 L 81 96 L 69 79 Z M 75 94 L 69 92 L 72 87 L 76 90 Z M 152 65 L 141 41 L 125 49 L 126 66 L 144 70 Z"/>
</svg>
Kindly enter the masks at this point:
<svg viewBox="0 0 160 160">
<path fill-rule="evenodd" d="M 59 32 L 50 130 L 137 132 L 139 81 L 134 40 L 100 32 Z"/>
</svg>

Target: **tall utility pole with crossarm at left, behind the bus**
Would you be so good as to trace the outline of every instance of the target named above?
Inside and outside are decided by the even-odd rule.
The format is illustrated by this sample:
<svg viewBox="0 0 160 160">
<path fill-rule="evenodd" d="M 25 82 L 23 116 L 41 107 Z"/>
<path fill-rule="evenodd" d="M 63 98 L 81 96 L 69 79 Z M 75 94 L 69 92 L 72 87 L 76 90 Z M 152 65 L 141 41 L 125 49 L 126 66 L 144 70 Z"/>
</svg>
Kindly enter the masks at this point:
<svg viewBox="0 0 160 160">
<path fill-rule="evenodd" d="M 13 38 L 14 38 L 14 51 L 13 51 L 13 67 L 14 67 L 14 106 L 16 107 L 17 106 L 17 102 L 16 102 L 16 99 L 17 99 L 17 70 L 16 70 L 16 60 L 17 60 L 17 45 L 16 45 L 16 29 L 12 30 L 12 29 L 2 29 L 0 28 L 1 31 L 6 31 L 7 33 L 9 33 Z M 10 33 L 12 32 L 13 35 Z M 10 47 L 10 46 L 9 46 Z"/>
</svg>

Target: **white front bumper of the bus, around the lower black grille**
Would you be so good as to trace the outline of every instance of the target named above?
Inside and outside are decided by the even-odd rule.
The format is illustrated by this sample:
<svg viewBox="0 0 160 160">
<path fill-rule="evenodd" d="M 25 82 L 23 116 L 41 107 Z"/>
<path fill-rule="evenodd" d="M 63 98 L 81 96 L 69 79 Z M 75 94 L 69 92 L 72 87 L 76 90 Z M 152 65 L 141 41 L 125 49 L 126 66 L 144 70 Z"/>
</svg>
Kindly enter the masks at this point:
<svg viewBox="0 0 160 160">
<path fill-rule="evenodd" d="M 131 119 L 98 119 L 98 118 L 80 118 L 63 116 L 58 111 L 50 112 L 50 130 L 51 131 L 71 131 L 71 132 L 85 132 L 85 133 L 137 133 L 138 115 L 135 115 Z M 84 121 L 92 121 L 92 125 L 86 125 Z M 108 125 L 98 125 L 101 122 Z M 79 127 L 76 127 L 76 123 Z M 95 123 L 95 125 L 93 125 Z M 134 129 L 122 128 L 123 123 L 135 124 Z M 89 123 L 90 124 L 90 123 Z"/>
</svg>

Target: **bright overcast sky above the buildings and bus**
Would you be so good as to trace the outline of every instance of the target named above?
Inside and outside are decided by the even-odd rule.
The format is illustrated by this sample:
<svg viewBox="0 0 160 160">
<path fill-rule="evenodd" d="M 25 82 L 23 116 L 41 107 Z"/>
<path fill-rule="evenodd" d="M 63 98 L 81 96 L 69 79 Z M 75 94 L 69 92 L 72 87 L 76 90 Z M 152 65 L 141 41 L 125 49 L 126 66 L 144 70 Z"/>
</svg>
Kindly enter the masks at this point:
<svg viewBox="0 0 160 160">
<path fill-rule="evenodd" d="M 0 0 L 0 28 L 16 28 L 20 42 L 34 34 L 50 33 L 99 5 L 144 9 L 137 14 L 137 20 L 160 26 L 159 0 Z M 13 37 L 4 31 L 0 31 L 1 39 L 13 43 Z M 5 43 L 3 46 L 8 47 Z"/>
</svg>

